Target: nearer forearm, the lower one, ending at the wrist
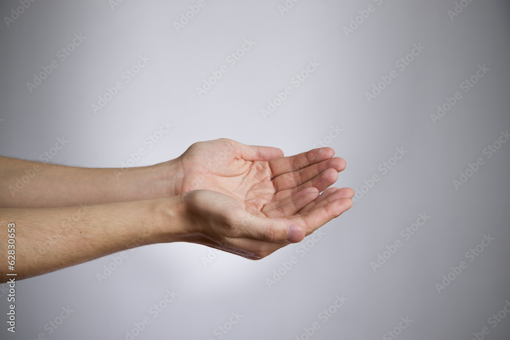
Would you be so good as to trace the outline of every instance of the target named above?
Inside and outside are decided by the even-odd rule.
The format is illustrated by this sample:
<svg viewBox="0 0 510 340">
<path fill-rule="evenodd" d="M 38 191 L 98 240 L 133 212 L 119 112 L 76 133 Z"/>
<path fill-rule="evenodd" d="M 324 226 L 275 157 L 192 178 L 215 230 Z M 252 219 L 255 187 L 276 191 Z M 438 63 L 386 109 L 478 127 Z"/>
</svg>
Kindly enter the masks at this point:
<svg viewBox="0 0 510 340">
<path fill-rule="evenodd" d="M 0 274 L 24 279 L 183 234 L 179 196 L 92 206 L 0 209 Z M 8 225 L 14 223 L 15 270 L 8 271 Z M 11 252 L 12 254 L 13 252 Z M 12 258 L 11 258 L 12 259 Z"/>
</svg>

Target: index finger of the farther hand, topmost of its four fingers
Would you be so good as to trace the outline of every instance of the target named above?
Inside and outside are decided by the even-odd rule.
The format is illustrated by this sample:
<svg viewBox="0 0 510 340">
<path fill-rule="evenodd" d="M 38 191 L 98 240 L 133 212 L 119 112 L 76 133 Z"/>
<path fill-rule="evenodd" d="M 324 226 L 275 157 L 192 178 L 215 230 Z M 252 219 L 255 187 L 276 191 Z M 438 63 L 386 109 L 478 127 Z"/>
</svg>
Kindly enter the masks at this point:
<svg viewBox="0 0 510 340">
<path fill-rule="evenodd" d="M 325 147 L 313 149 L 290 157 L 282 157 L 272 160 L 269 162 L 272 178 L 328 160 L 334 155 L 335 151 L 333 149 Z"/>
</svg>

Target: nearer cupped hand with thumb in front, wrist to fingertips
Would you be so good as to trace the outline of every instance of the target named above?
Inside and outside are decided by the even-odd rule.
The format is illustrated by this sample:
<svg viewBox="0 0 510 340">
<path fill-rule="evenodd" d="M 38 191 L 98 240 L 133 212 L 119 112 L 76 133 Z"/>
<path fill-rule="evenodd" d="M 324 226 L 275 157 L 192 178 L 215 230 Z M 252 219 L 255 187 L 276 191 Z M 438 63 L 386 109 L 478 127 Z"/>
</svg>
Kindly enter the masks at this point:
<svg viewBox="0 0 510 340">
<path fill-rule="evenodd" d="M 261 259 L 291 242 L 301 241 L 320 226 L 352 206 L 352 190 L 330 188 L 302 210 L 283 218 L 268 218 L 262 212 L 247 212 L 238 200 L 211 190 L 180 195 L 184 201 L 185 237 L 198 243 Z"/>
</svg>

